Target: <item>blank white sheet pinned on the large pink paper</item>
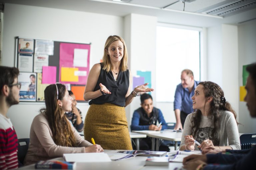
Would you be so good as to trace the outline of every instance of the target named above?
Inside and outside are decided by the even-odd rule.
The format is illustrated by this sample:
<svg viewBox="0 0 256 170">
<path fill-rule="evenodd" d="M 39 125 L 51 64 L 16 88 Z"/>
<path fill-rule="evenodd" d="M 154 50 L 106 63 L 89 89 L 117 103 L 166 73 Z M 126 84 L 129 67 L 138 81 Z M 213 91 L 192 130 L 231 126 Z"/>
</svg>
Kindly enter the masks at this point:
<svg viewBox="0 0 256 170">
<path fill-rule="evenodd" d="M 88 49 L 74 49 L 74 67 L 87 67 Z"/>
</svg>

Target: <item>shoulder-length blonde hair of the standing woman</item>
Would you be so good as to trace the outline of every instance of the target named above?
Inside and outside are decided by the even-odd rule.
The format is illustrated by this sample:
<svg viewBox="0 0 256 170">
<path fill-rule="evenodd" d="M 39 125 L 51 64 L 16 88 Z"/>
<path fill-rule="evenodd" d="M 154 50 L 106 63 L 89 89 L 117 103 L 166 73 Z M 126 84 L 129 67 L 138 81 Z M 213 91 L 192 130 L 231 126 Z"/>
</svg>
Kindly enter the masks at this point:
<svg viewBox="0 0 256 170">
<path fill-rule="evenodd" d="M 124 40 L 119 36 L 109 36 L 105 43 L 104 55 L 102 57 L 103 70 L 106 70 L 107 72 L 112 70 L 110 57 L 107 54 L 107 50 L 108 50 L 108 47 L 110 46 L 110 44 L 115 41 L 121 41 L 121 42 L 123 42 L 123 45 L 124 45 L 124 55 L 123 55 L 123 58 L 121 59 L 120 70 L 126 71 L 128 69 L 128 67 L 127 67 L 128 54 L 127 54 L 127 48 L 126 48 L 126 44 L 125 44 Z"/>
</svg>

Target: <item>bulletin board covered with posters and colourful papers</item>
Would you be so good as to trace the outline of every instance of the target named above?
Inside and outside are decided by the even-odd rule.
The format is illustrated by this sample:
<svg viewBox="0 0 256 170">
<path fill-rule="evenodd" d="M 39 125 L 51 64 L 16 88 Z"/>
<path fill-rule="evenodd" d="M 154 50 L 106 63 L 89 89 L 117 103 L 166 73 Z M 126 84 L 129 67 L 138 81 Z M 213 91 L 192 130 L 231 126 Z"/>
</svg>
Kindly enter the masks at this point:
<svg viewBox="0 0 256 170">
<path fill-rule="evenodd" d="M 15 38 L 15 64 L 22 84 L 20 101 L 44 102 L 44 89 L 62 83 L 86 102 L 83 93 L 89 73 L 90 43 Z"/>
</svg>

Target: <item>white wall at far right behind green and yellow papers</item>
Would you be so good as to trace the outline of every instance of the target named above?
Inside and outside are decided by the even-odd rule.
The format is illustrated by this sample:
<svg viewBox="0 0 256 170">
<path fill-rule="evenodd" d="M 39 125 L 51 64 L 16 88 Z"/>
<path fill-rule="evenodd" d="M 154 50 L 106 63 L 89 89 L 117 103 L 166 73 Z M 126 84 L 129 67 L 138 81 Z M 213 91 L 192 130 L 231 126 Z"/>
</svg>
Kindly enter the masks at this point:
<svg viewBox="0 0 256 170">
<path fill-rule="evenodd" d="M 243 86 L 243 65 L 256 62 L 256 20 L 245 22 L 238 26 L 238 80 Z M 251 118 L 246 107 L 246 102 L 239 102 L 239 132 L 255 133 L 256 119 Z"/>
</svg>

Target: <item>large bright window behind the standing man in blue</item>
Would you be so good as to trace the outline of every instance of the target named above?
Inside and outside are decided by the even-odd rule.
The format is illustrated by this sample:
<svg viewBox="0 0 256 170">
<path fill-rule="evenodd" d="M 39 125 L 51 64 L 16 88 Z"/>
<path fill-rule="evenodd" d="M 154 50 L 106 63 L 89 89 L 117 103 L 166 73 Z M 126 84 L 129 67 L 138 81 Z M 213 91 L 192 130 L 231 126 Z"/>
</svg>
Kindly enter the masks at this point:
<svg viewBox="0 0 256 170">
<path fill-rule="evenodd" d="M 183 69 L 200 80 L 200 31 L 157 26 L 156 101 L 173 102 Z"/>
</svg>

